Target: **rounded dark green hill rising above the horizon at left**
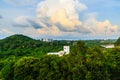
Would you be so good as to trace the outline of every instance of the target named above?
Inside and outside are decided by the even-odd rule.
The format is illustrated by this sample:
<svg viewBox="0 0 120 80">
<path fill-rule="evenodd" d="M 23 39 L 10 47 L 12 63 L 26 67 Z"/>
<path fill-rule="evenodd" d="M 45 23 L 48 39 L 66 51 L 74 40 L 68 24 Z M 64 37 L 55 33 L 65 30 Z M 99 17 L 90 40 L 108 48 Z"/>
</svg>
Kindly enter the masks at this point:
<svg viewBox="0 0 120 80">
<path fill-rule="evenodd" d="M 24 36 L 24 35 L 12 35 L 3 40 L 0 40 L 0 49 L 16 49 L 22 47 L 30 47 L 30 43 L 34 43 L 36 40 Z"/>
</svg>

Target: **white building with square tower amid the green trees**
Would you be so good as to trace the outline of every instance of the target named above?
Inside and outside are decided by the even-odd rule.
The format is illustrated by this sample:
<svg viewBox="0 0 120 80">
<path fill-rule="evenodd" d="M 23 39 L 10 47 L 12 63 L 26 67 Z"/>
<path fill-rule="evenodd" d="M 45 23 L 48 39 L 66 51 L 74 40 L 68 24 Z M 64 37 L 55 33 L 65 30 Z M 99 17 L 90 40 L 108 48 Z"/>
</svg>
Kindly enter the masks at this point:
<svg viewBox="0 0 120 80">
<path fill-rule="evenodd" d="M 63 46 L 63 51 L 59 52 L 49 52 L 48 55 L 58 55 L 63 56 L 70 53 L 70 46 Z"/>
</svg>

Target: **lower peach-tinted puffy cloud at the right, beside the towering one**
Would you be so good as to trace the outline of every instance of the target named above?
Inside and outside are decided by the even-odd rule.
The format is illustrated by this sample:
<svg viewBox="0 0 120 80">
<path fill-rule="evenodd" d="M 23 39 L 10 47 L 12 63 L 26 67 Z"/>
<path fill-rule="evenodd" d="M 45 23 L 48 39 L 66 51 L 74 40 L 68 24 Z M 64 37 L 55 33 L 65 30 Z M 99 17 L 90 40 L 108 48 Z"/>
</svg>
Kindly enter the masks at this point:
<svg viewBox="0 0 120 80">
<path fill-rule="evenodd" d="M 92 35 L 114 35 L 118 33 L 119 27 L 117 25 L 112 25 L 109 20 L 98 21 L 95 16 L 90 16 L 84 22 L 84 26 L 87 27 Z"/>
</svg>

